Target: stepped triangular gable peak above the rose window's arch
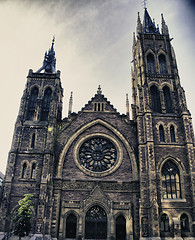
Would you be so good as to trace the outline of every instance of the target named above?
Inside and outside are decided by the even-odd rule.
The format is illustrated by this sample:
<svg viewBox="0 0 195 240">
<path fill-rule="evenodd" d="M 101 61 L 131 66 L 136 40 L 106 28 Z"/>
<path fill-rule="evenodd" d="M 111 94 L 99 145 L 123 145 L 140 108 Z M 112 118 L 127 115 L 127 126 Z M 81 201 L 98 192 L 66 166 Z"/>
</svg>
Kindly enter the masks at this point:
<svg viewBox="0 0 195 240">
<path fill-rule="evenodd" d="M 117 113 L 116 108 L 104 97 L 100 86 L 95 96 L 82 108 L 82 112 L 111 112 Z"/>
</svg>

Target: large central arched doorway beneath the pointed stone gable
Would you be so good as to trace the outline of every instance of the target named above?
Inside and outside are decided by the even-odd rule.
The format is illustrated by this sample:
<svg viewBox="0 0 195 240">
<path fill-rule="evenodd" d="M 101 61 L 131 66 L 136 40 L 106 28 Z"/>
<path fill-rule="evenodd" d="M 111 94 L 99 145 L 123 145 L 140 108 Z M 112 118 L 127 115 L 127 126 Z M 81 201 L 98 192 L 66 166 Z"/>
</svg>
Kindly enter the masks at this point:
<svg viewBox="0 0 195 240">
<path fill-rule="evenodd" d="M 107 239 L 107 215 L 100 206 L 93 206 L 86 213 L 85 239 Z"/>
</svg>

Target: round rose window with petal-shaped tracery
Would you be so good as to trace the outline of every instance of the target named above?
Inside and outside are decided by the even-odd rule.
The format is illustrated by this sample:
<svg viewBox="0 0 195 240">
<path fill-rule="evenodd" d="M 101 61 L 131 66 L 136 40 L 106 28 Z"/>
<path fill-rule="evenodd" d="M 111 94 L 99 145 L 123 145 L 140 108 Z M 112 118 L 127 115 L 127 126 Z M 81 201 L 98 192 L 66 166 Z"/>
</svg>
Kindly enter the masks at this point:
<svg viewBox="0 0 195 240">
<path fill-rule="evenodd" d="M 102 137 L 88 139 L 79 149 L 80 164 L 92 172 L 104 172 L 113 167 L 116 161 L 114 144 Z"/>
</svg>

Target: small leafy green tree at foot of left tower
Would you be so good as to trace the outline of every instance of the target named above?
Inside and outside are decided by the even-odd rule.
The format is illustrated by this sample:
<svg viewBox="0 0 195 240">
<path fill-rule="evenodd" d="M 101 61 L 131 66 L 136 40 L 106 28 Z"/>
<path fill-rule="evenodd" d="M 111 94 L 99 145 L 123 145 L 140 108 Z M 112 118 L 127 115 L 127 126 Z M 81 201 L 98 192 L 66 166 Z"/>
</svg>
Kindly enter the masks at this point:
<svg viewBox="0 0 195 240">
<path fill-rule="evenodd" d="M 25 194 L 18 204 L 19 208 L 15 211 L 13 216 L 13 233 L 21 239 L 28 236 L 31 230 L 31 216 L 32 212 L 32 194 Z"/>
</svg>

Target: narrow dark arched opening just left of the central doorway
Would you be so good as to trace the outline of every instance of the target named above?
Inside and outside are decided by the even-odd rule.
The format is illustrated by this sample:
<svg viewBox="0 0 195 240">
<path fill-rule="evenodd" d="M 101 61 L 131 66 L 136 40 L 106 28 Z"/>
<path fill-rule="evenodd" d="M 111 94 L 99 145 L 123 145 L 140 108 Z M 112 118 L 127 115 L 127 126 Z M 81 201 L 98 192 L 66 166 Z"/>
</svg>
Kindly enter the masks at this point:
<svg viewBox="0 0 195 240">
<path fill-rule="evenodd" d="M 69 214 L 66 219 L 66 238 L 76 239 L 77 218 L 74 214 Z"/>
</svg>

